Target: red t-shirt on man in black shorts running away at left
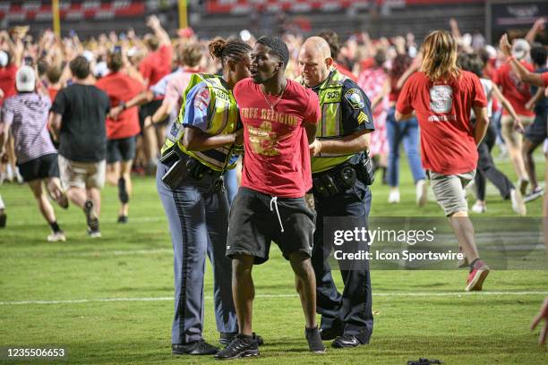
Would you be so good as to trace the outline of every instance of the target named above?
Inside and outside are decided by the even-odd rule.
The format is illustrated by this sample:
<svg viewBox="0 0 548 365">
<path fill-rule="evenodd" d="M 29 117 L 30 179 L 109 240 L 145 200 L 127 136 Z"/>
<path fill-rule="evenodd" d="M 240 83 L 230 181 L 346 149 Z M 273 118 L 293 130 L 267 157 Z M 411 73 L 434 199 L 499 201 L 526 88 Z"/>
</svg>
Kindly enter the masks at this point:
<svg viewBox="0 0 548 365">
<path fill-rule="evenodd" d="M 131 100 L 143 89 L 141 82 L 123 72 L 109 73 L 99 79 L 95 86 L 107 93 L 111 107 L 118 106 L 120 101 Z M 133 137 L 140 130 L 137 106 L 125 109 L 117 119 L 107 117 L 108 140 Z"/>
</svg>

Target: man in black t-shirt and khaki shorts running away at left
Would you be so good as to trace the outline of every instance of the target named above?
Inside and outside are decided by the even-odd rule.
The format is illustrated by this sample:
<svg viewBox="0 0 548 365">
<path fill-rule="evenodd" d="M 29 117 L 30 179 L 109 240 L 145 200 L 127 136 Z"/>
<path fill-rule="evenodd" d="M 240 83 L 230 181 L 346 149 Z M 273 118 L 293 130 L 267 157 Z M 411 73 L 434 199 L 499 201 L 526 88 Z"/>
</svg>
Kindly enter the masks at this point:
<svg viewBox="0 0 548 365">
<path fill-rule="evenodd" d="M 70 63 L 73 84 L 60 90 L 51 108 L 52 128 L 59 140 L 61 181 L 69 199 L 82 208 L 90 237 L 100 237 L 100 189 L 105 183 L 110 102 L 90 81 L 90 62 L 84 56 Z"/>
</svg>

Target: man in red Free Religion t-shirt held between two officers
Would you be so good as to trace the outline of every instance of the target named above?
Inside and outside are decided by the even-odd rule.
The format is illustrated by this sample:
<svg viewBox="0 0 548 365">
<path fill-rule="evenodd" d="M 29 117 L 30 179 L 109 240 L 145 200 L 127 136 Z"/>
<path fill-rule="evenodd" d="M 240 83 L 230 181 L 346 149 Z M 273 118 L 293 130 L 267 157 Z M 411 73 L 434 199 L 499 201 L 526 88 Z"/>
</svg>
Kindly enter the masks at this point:
<svg viewBox="0 0 548 365">
<path fill-rule="evenodd" d="M 253 264 L 269 259 L 278 243 L 295 272 L 311 352 L 324 352 L 316 324 L 316 278 L 311 263 L 314 213 L 304 200 L 312 188 L 309 145 L 321 118 L 318 97 L 284 76 L 289 51 L 276 37 L 257 40 L 251 79 L 233 92 L 244 123 L 242 186 L 232 203 L 227 256 L 232 259 L 235 309 L 240 333 L 218 359 L 257 353 L 253 335 Z"/>
</svg>

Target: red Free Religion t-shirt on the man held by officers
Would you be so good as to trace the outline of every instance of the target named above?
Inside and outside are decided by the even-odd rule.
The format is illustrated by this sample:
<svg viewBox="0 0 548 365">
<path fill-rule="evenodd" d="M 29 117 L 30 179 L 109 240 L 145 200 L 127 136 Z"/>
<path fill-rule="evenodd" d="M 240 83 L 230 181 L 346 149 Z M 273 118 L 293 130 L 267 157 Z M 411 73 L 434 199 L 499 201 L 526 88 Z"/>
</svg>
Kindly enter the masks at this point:
<svg viewBox="0 0 548 365">
<path fill-rule="evenodd" d="M 295 81 L 287 87 L 274 110 L 261 84 L 244 79 L 234 97 L 244 123 L 242 186 L 280 198 L 300 198 L 312 188 L 308 139 L 304 123 L 318 123 L 316 94 Z M 268 96 L 275 103 L 279 96 Z"/>
</svg>

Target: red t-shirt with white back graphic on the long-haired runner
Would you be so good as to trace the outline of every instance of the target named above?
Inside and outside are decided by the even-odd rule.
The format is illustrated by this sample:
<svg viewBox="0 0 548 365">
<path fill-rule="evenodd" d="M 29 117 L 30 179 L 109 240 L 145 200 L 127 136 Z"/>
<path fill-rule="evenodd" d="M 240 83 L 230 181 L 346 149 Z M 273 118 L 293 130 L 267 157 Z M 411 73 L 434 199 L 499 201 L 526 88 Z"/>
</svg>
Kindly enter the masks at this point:
<svg viewBox="0 0 548 365">
<path fill-rule="evenodd" d="M 475 170 L 472 106 L 487 106 L 482 83 L 472 72 L 462 71 L 458 81 L 450 82 L 432 82 L 424 72 L 415 72 L 407 80 L 396 109 L 403 115 L 416 112 L 425 169 L 438 174 Z"/>
</svg>

